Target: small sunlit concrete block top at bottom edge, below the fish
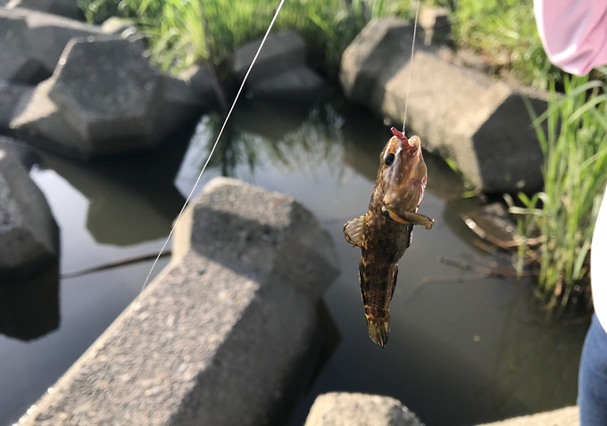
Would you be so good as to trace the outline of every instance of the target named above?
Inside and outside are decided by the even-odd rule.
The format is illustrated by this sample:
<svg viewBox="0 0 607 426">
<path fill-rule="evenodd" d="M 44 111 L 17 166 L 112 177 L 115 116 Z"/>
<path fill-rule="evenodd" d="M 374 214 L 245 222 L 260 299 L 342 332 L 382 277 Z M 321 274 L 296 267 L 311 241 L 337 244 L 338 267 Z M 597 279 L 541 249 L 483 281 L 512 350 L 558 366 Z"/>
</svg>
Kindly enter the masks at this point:
<svg viewBox="0 0 607 426">
<path fill-rule="evenodd" d="M 422 426 L 406 406 L 393 397 L 331 392 L 314 401 L 305 426 Z"/>
</svg>

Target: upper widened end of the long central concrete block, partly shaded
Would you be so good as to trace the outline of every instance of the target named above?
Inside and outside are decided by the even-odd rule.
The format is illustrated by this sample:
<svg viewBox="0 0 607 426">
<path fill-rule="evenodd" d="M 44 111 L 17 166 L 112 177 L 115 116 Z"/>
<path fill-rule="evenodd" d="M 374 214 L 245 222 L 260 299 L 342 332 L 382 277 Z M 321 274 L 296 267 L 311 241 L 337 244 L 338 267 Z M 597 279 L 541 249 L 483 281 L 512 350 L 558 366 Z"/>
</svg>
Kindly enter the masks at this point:
<svg viewBox="0 0 607 426">
<path fill-rule="evenodd" d="M 337 276 L 333 242 L 310 211 L 234 179 L 213 179 L 177 230 L 175 256 L 194 251 L 266 283 L 293 282 L 311 298 Z"/>
</svg>

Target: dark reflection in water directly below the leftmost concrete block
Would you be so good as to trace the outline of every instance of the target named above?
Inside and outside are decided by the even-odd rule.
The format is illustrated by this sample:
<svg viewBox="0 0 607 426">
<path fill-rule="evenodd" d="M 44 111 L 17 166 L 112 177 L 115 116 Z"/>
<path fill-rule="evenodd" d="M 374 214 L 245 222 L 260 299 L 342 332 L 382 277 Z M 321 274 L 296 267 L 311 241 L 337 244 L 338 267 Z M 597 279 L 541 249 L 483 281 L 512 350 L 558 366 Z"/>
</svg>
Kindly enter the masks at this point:
<svg viewBox="0 0 607 426">
<path fill-rule="evenodd" d="M 33 340 L 59 327 L 59 267 L 24 281 L 0 283 L 0 333 Z"/>
</svg>

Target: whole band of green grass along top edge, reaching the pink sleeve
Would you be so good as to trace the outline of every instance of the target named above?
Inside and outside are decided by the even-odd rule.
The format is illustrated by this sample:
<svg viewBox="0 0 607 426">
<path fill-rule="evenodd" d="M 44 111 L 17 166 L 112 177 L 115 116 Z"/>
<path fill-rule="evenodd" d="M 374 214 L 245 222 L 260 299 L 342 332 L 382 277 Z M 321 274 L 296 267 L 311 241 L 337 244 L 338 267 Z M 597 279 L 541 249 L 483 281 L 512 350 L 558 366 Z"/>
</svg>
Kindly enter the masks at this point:
<svg viewBox="0 0 607 426">
<path fill-rule="evenodd" d="M 200 4 L 209 22 L 210 45 L 202 33 Z M 135 20 L 150 41 L 151 57 L 163 70 L 204 62 L 216 65 L 238 45 L 261 37 L 278 0 L 79 0 L 87 20 L 110 16 Z M 548 61 L 537 35 L 533 1 L 421 0 L 442 5 L 453 22 L 453 41 L 482 54 L 499 74 L 511 72 L 523 83 L 545 88 L 562 72 Z M 277 29 L 296 29 L 306 40 L 310 61 L 336 77 L 341 53 L 373 17 L 412 19 L 416 0 L 298 0 L 285 2 Z"/>
</svg>

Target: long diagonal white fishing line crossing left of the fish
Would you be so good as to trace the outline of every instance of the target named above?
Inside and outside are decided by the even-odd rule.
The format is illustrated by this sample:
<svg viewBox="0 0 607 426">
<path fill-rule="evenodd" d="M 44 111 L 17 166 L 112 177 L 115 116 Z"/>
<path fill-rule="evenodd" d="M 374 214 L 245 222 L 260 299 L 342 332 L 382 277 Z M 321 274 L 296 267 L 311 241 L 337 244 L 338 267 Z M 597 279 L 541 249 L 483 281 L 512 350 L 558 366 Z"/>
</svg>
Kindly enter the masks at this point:
<svg viewBox="0 0 607 426">
<path fill-rule="evenodd" d="M 270 30 L 274 26 L 274 22 L 278 18 L 280 9 L 282 8 L 282 4 L 284 4 L 284 3 L 285 3 L 285 0 L 280 0 L 279 6 L 276 8 L 276 12 L 274 12 L 274 16 L 272 17 L 272 20 L 270 21 L 270 26 L 268 27 L 268 29 L 265 32 L 265 35 L 262 38 L 262 44 L 259 45 L 259 48 L 257 49 L 257 52 L 255 53 L 255 55 L 253 57 L 253 61 L 251 61 L 251 65 L 249 65 L 249 69 L 246 70 L 245 78 L 243 78 L 243 82 L 240 85 L 240 87 L 238 88 L 236 97 L 234 98 L 234 102 L 232 102 L 232 106 L 229 108 L 228 115 L 226 115 L 226 119 L 223 120 L 223 125 L 220 128 L 220 133 L 219 133 L 219 135 L 217 135 L 217 139 L 215 139 L 215 143 L 213 143 L 213 145 L 212 145 L 211 152 L 209 152 L 209 156 L 206 159 L 206 161 L 204 162 L 204 166 L 200 170 L 200 173 L 198 174 L 198 177 L 196 178 L 196 181 L 195 181 L 194 186 L 192 187 L 192 190 L 187 195 L 187 199 L 184 202 L 183 207 L 181 208 L 181 210 L 179 210 L 179 214 L 175 218 L 175 221 L 174 221 L 172 227 L 170 228 L 169 236 L 166 238 L 164 244 L 162 244 L 162 248 L 161 248 L 160 252 L 158 253 L 158 256 L 156 256 L 156 258 L 154 259 L 154 263 L 152 264 L 152 267 L 150 268 L 150 271 L 147 273 L 146 281 L 144 281 L 144 284 L 141 287 L 141 290 L 137 294 L 137 298 L 135 299 L 135 303 L 133 303 L 133 307 L 131 309 L 131 313 L 129 315 L 129 319 L 127 320 L 127 322 L 122 327 L 122 330 L 121 330 L 121 333 L 120 333 L 120 335 L 118 337 L 118 340 L 116 340 L 116 346 L 120 345 L 124 333 L 129 328 L 130 321 L 133 318 L 133 316 L 135 315 L 135 310 L 136 310 L 137 305 L 139 303 L 139 298 L 141 297 L 141 294 L 143 293 L 143 291 L 146 289 L 147 283 L 150 281 L 150 277 L 152 276 L 152 272 L 154 271 L 154 268 L 156 267 L 156 264 L 158 263 L 158 260 L 162 257 L 162 253 L 164 252 L 164 250 L 166 249 L 167 245 L 169 244 L 170 237 L 173 235 L 173 232 L 175 231 L 175 228 L 177 227 L 179 219 L 183 215 L 183 212 L 186 209 L 187 204 L 192 199 L 192 197 L 193 197 L 193 195 L 195 193 L 196 187 L 198 186 L 198 184 L 200 184 L 200 179 L 202 178 L 202 176 L 204 174 L 204 170 L 209 165 L 209 161 L 211 161 L 212 154 L 213 154 L 213 152 L 215 152 L 215 148 L 217 148 L 217 144 L 220 142 L 220 137 L 223 134 L 223 131 L 226 128 L 226 125 L 228 124 L 229 117 L 232 115 L 232 111 L 234 111 L 234 108 L 236 107 L 236 103 L 238 101 L 238 98 L 240 97 L 240 94 L 242 93 L 243 88 L 245 87 L 246 79 L 249 77 L 249 74 L 251 73 L 251 70 L 253 69 L 255 61 L 257 61 L 257 57 L 259 56 L 259 53 L 262 51 L 262 47 L 263 47 L 263 45 L 266 42 L 266 38 L 268 38 L 268 35 L 270 34 Z M 105 375 L 107 374 L 107 370 L 108 370 L 108 368 L 109 368 L 109 366 L 110 366 L 111 363 L 112 363 L 112 354 L 110 354 L 108 356 L 108 360 L 107 360 L 107 362 L 105 363 L 105 366 L 104 366 L 104 371 L 101 374 L 101 379 L 105 378 Z M 100 379 L 100 381 L 101 381 L 101 379 Z M 93 396 L 92 396 L 92 399 L 95 399 L 95 395 L 96 394 L 94 393 Z M 82 417 L 83 416 L 84 416 L 84 411 L 80 415 L 78 425 L 80 424 L 80 422 L 82 422 Z"/>
</svg>

